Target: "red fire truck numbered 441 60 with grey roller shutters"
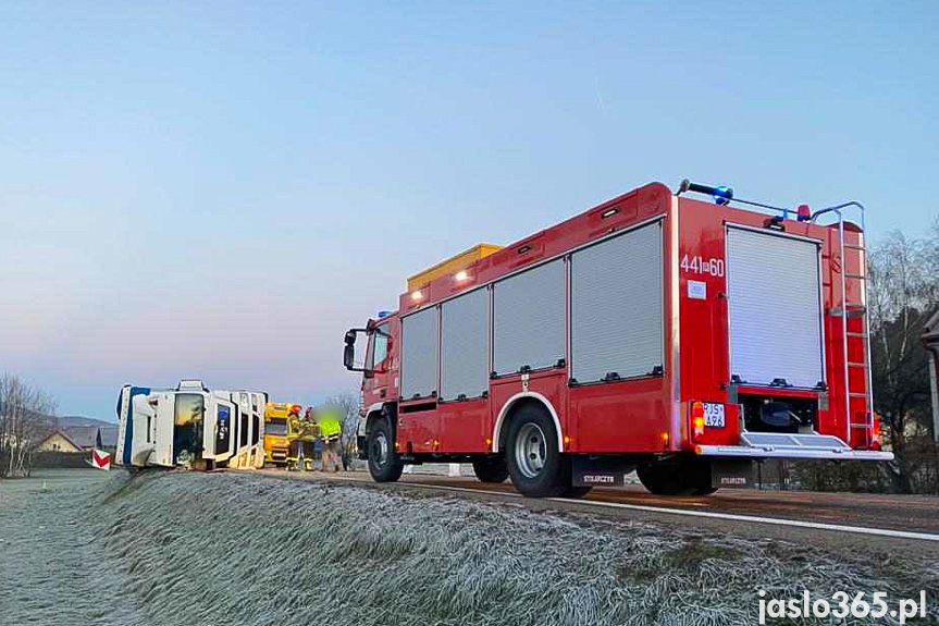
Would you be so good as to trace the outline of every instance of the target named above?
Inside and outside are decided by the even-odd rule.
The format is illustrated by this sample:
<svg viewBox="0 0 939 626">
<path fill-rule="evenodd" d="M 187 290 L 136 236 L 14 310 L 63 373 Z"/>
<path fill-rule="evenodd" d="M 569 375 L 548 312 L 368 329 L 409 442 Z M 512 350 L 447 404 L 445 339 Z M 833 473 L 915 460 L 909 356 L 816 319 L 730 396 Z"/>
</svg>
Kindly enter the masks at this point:
<svg viewBox="0 0 939 626">
<path fill-rule="evenodd" d="M 530 496 L 633 469 L 653 493 L 707 494 L 746 484 L 753 459 L 892 458 L 872 410 L 860 204 L 652 183 L 487 251 L 435 266 L 345 335 L 374 480 L 469 462 Z"/>
</svg>

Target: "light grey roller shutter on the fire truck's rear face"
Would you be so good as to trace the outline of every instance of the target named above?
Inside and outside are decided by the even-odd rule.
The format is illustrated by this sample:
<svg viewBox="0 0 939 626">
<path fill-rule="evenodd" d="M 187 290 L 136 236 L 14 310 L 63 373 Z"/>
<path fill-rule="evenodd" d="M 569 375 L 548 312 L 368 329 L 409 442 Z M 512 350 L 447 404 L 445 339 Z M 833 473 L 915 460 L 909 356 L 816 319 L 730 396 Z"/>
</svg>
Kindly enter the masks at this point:
<svg viewBox="0 0 939 626">
<path fill-rule="evenodd" d="M 730 372 L 742 382 L 824 381 L 818 245 L 727 229 Z"/>
</svg>

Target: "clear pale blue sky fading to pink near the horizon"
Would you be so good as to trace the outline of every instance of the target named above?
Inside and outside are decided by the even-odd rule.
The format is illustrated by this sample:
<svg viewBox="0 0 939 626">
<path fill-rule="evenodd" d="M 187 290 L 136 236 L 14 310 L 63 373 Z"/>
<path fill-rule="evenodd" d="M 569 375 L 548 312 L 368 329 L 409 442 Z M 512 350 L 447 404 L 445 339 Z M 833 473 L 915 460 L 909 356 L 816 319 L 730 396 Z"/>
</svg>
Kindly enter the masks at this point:
<svg viewBox="0 0 939 626">
<path fill-rule="evenodd" d="M 0 3 L 0 371 L 356 391 L 406 278 L 651 181 L 939 216 L 939 3 Z"/>
</svg>

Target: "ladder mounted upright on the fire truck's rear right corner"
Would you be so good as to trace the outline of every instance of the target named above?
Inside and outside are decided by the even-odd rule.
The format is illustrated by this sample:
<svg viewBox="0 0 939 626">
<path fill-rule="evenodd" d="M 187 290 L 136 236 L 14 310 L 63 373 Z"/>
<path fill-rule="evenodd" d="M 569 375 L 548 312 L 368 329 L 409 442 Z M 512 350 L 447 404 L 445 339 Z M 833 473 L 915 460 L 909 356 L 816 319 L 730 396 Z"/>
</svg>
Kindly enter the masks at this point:
<svg viewBox="0 0 939 626">
<path fill-rule="evenodd" d="M 844 237 L 844 211 L 852 208 L 856 209 L 861 216 L 861 232 L 857 236 L 857 244 L 848 243 Z M 874 431 L 874 395 L 870 366 L 870 323 L 867 307 L 868 257 L 867 246 L 865 245 L 867 228 L 864 220 L 864 206 L 861 202 L 851 201 L 821 209 L 813 213 L 812 221 L 828 212 L 833 212 L 838 217 L 838 247 L 841 254 L 841 271 L 837 272 L 839 277 L 837 286 L 841 293 L 841 306 L 830 309 L 828 314 L 841 319 L 841 357 L 844 375 L 844 441 L 853 447 L 852 434 L 855 429 L 863 429 L 862 441 L 865 446 L 869 446 Z M 856 273 L 850 271 L 853 267 L 857 268 Z M 827 286 L 832 291 L 836 289 L 835 275 L 835 271 L 829 272 L 830 282 Z M 852 283 L 857 284 L 856 290 L 849 289 L 849 284 Z M 848 295 L 855 291 L 858 294 L 858 298 L 849 302 Z M 851 360 L 852 355 L 854 356 L 854 360 Z M 857 358 L 858 355 L 860 359 Z M 852 372 L 855 371 L 860 371 L 861 376 L 852 376 Z M 858 380 L 861 381 L 860 385 L 857 384 Z M 852 401 L 855 401 L 856 404 L 861 400 L 864 401 L 864 410 L 852 410 Z M 858 413 L 861 414 L 860 420 L 857 419 Z"/>
</svg>

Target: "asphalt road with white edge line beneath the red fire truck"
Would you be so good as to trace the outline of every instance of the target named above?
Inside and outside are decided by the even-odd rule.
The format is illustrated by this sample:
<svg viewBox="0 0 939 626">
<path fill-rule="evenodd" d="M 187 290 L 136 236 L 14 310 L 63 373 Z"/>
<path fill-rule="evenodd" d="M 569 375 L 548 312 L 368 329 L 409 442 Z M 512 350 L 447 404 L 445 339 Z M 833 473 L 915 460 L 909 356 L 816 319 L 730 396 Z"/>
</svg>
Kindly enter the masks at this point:
<svg viewBox="0 0 939 626">
<path fill-rule="evenodd" d="M 851 493 L 773 492 L 722 489 L 709 496 L 663 498 L 642 487 L 595 488 L 582 500 L 522 498 L 506 481 L 482 483 L 468 477 L 411 474 L 378 484 L 367 472 L 258 474 L 280 479 L 355 483 L 370 489 L 490 502 L 509 502 L 534 511 L 588 513 L 603 518 L 637 519 L 683 526 L 702 533 L 726 533 L 811 542 L 833 550 L 898 551 L 939 559 L 939 498 Z"/>
</svg>

